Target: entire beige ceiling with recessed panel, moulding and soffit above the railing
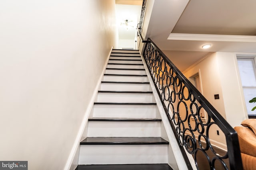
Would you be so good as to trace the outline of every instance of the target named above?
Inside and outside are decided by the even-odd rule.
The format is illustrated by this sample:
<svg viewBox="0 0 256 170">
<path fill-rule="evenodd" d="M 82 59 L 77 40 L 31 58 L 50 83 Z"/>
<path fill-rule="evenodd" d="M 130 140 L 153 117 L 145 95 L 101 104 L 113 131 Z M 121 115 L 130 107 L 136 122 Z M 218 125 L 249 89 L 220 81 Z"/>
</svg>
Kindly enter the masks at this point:
<svg viewBox="0 0 256 170">
<path fill-rule="evenodd" d="M 155 0 L 146 38 L 181 71 L 216 51 L 256 53 L 255 8 L 256 0 Z"/>
</svg>

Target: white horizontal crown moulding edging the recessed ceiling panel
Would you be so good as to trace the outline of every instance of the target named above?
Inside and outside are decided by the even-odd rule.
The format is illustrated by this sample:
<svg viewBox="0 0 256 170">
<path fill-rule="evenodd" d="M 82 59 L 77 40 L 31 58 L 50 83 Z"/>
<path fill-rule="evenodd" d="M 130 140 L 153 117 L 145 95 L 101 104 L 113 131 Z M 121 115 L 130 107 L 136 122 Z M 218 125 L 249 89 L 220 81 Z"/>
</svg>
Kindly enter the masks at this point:
<svg viewBox="0 0 256 170">
<path fill-rule="evenodd" d="M 212 34 L 186 34 L 170 33 L 169 40 L 189 41 L 228 41 L 228 42 L 256 42 L 253 35 L 212 35 Z"/>
</svg>

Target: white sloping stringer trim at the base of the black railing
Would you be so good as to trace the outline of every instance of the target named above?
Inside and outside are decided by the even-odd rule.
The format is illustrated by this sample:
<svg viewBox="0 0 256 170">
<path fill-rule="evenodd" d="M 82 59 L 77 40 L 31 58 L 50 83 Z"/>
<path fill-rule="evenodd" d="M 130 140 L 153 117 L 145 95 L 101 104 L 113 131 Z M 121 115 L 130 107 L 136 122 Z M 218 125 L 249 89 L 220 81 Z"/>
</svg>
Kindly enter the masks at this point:
<svg viewBox="0 0 256 170">
<path fill-rule="evenodd" d="M 158 93 L 156 91 L 156 88 L 154 86 L 154 82 L 153 80 L 151 79 L 151 76 L 150 76 L 150 72 L 148 71 L 148 67 L 146 66 L 146 62 L 144 60 L 143 57 L 142 58 L 142 62 L 144 64 L 144 67 L 145 67 L 145 70 L 146 70 L 146 74 L 148 75 L 148 79 L 149 79 L 149 82 L 150 82 L 150 86 L 152 88 L 152 92 L 154 94 L 154 97 L 155 97 L 155 100 L 156 100 L 156 104 L 158 106 L 158 109 L 159 109 L 159 113 L 160 113 L 160 116 L 161 116 L 161 119 L 162 119 L 162 123 L 164 125 L 164 128 L 166 130 L 166 133 L 167 133 L 167 137 L 168 137 L 168 141 L 170 143 L 170 147 L 172 148 L 172 152 L 173 152 L 173 156 L 175 158 L 175 161 L 176 161 L 176 165 L 171 165 L 170 162 L 168 162 L 170 164 L 170 166 L 178 166 L 178 169 L 179 170 L 188 170 L 188 167 L 186 166 L 186 164 L 184 163 L 185 160 L 182 156 L 182 153 L 180 151 L 180 147 L 178 146 L 178 143 L 176 141 L 176 137 L 172 131 L 172 128 L 170 126 L 170 123 L 168 121 L 168 118 L 166 116 L 166 113 L 164 111 L 164 107 L 162 107 L 162 102 L 158 96 Z M 190 160 L 190 162 L 194 162 L 194 158 L 192 155 L 188 155 L 188 159 Z M 196 170 L 196 165 L 195 164 L 191 164 L 193 169 Z M 176 169 L 175 167 L 172 167 L 174 169 Z"/>
</svg>

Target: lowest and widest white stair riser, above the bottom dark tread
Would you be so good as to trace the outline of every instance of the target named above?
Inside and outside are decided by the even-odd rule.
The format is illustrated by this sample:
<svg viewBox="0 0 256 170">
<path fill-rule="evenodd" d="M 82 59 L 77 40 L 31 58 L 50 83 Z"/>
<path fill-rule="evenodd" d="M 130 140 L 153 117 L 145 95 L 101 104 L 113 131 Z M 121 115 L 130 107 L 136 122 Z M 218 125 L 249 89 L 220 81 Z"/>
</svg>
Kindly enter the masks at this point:
<svg viewBox="0 0 256 170">
<path fill-rule="evenodd" d="M 78 164 L 164 164 L 168 145 L 81 145 Z"/>
</svg>

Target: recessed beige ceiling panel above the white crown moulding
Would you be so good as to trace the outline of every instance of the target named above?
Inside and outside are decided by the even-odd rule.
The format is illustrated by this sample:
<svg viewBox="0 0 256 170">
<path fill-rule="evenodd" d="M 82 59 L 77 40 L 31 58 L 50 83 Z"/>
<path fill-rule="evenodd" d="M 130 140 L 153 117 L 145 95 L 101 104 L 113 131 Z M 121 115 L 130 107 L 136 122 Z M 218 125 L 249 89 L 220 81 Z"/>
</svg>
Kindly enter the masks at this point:
<svg viewBox="0 0 256 170">
<path fill-rule="evenodd" d="M 256 35 L 255 0 L 190 0 L 172 33 Z"/>
</svg>

